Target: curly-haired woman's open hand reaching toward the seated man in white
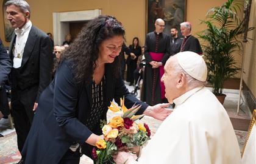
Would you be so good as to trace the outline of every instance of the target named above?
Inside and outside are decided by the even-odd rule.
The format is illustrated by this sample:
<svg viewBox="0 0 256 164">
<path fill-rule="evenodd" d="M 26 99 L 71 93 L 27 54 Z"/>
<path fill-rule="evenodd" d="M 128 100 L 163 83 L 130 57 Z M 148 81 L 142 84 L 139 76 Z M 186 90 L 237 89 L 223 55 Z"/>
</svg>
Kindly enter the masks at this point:
<svg viewBox="0 0 256 164">
<path fill-rule="evenodd" d="M 149 106 L 143 114 L 154 117 L 157 120 L 165 120 L 173 109 L 168 109 L 169 103 L 156 104 L 155 106 Z"/>
</svg>

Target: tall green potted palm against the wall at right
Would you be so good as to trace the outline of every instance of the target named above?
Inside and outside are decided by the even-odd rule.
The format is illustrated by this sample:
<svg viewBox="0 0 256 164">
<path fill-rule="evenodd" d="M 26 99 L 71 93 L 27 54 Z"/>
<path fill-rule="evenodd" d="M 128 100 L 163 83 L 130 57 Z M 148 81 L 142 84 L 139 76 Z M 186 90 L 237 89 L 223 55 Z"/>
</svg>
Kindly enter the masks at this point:
<svg viewBox="0 0 256 164">
<path fill-rule="evenodd" d="M 242 55 L 243 52 L 241 34 L 244 33 L 244 19 L 237 15 L 243 5 L 241 0 L 227 0 L 223 5 L 208 10 L 207 18 L 202 21 L 207 28 L 199 34 L 199 38 L 204 41 L 202 48 L 208 83 L 213 85 L 213 94 L 217 98 L 226 97 L 222 94 L 224 81 L 240 70 L 236 67 L 234 55 Z"/>
</svg>

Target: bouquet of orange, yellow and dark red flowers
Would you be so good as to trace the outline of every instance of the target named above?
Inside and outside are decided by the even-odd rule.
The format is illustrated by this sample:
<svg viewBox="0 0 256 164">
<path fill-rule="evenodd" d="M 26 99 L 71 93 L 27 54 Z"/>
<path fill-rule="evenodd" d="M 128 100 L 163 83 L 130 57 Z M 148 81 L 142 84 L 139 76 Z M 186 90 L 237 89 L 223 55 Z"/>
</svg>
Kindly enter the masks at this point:
<svg viewBox="0 0 256 164">
<path fill-rule="evenodd" d="M 133 146 L 143 146 L 148 142 L 151 135 L 148 125 L 145 123 L 136 123 L 135 121 L 144 115 L 135 115 L 141 106 L 133 105 L 132 108 L 127 109 L 124 106 L 124 98 L 120 98 L 121 106 L 116 106 L 112 103 L 108 107 L 113 112 L 123 111 L 123 115 L 113 117 L 109 123 L 106 121 L 102 124 L 102 133 L 104 139 L 96 142 L 96 148 L 93 148 L 93 158 L 96 163 L 112 162 L 112 155 L 118 151 L 119 148 L 126 146 L 131 148 Z"/>
</svg>

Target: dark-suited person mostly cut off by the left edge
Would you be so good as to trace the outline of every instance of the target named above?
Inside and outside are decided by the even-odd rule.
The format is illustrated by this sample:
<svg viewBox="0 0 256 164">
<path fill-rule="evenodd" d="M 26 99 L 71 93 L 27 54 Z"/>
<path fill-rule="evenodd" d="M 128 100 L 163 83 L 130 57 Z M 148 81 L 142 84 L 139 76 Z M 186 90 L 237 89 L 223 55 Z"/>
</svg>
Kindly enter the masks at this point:
<svg viewBox="0 0 256 164">
<path fill-rule="evenodd" d="M 11 67 L 10 57 L 0 39 L 0 119 L 10 114 L 7 94 L 5 92 L 5 82 L 8 79 Z M 1 134 L 0 137 L 2 137 Z"/>
</svg>

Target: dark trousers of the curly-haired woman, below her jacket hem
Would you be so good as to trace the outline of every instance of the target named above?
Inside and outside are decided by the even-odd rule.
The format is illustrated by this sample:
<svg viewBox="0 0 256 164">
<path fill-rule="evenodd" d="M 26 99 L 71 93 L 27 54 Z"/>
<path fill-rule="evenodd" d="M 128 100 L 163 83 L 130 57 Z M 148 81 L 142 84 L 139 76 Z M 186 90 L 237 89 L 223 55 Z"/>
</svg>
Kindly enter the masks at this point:
<svg viewBox="0 0 256 164">
<path fill-rule="evenodd" d="M 65 153 L 65 155 L 60 160 L 59 164 L 79 164 L 80 162 L 80 152 L 79 149 L 73 152 L 71 149 Z"/>
</svg>

